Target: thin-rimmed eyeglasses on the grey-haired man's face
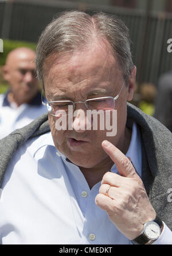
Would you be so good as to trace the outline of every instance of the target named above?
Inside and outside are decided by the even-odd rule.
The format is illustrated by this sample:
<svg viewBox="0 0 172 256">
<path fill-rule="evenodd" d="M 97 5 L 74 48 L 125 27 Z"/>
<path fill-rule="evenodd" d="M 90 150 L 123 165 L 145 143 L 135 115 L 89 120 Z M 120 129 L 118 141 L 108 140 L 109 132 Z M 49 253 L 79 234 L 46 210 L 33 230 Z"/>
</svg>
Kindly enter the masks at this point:
<svg viewBox="0 0 172 256">
<path fill-rule="evenodd" d="M 85 108 L 88 110 L 92 110 L 92 112 L 97 112 L 99 110 L 107 111 L 115 108 L 115 101 L 118 99 L 120 92 L 123 89 L 124 83 L 126 82 L 126 78 L 124 79 L 123 85 L 116 97 L 99 97 L 99 98 L 91 98 L 89 100 L 83 101 L 48 101 L 43 102 L 42 104 L 46 106 L 48 112 L 52 116 L 59 116 L 59 113 L 63 115 L 72 114 L 76 109 L 77 103 L 83 103 Z M 41 95 L 42 97 L 42 95 Z"/>
</svg>

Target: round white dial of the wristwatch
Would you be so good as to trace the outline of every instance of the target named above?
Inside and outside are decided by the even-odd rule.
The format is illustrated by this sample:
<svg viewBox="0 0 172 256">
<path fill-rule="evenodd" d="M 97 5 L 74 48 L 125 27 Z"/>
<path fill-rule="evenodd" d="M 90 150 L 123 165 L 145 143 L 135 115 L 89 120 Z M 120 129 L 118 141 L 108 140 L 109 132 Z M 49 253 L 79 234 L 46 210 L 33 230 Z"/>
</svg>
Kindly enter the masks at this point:
<svg viewBox="0 0 172 256">
<path fill-rule="evenodd" d="M 144 224 L 144 235 L 146 235 L 148 239 L 156 240 L 159 238 L 160 234 L 161 229 L 156 222 L 148 221 Z"/>
</svg>

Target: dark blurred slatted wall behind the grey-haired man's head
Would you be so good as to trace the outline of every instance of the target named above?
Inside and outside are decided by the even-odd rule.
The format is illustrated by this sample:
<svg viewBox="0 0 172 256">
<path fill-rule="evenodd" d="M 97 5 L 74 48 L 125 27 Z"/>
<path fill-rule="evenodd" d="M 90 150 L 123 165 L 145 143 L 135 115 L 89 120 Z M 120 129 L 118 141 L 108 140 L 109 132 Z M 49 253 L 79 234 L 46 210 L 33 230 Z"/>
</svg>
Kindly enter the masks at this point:
<svg viewBox="0 0 172 256">
<path fill-rule="evenodd" d="M 157 85 L 161 74 L 171 70 L 172 0 L 0 0 L 0 38 L 37 43 L 52 18 L 70 9 L 102 10 L 126 23 L 139 85 Z"/>
</svg>

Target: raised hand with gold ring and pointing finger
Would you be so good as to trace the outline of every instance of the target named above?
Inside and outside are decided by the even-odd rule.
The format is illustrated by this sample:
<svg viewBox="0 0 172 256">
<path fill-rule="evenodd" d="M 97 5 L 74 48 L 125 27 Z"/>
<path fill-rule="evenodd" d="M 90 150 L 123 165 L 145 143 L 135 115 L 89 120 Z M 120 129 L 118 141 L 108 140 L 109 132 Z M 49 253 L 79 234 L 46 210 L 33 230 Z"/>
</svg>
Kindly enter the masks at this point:
<svg viewBox="0 0 172 256">
<path fill-rule="evenodd" d="M 107 212 L 118 230 L 132 240 L 143 231 L 144 223 L 155 219 L 156 213 L 148 200 L 142 179 L 127 156 L 107 140 L 104 140 L 102 147 L 116 163 L 120 175 L 110 171 L 104 174 L 95 202 Z"/>
</svg>

